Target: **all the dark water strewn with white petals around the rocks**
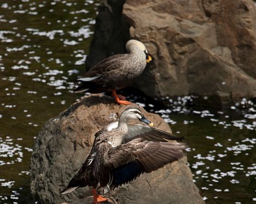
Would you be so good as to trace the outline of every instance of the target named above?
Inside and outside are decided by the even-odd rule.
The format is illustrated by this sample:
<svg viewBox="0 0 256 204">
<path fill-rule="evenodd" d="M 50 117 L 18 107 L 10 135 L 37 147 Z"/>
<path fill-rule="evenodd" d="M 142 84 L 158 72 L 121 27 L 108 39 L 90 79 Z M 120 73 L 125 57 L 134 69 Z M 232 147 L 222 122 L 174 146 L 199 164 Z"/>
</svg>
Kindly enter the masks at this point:
<svg viewBox="0 0 256 204">
<path fill-rule="evenodd" d="M 0 1 L 0 203 L 31 200 L 34 138 L 49 118 L 81 96 L 70 90 L 84 71 L 97 4 Z M 207 203 L 256 201 L 255 105 L 243 100 L 226 112 L 188 110 L 187 100 L 192 99 L 170 100 L 169 108 L 152 102 L 146 108 L 186 136 L 202 197 Z"/>
</svg>

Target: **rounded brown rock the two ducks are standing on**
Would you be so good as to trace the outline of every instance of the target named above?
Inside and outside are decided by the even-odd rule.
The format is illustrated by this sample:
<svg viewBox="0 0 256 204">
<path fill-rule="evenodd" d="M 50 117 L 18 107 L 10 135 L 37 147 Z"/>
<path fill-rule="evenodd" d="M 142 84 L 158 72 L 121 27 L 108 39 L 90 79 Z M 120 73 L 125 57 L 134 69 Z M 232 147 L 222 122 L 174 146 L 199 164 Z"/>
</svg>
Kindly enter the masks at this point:
<svg viewBox="0 0 256 204">
<path fill-rule="evenodd" d="M 135 104 L 132 104 L 137 106 Z M 89 187 L 60 194 L 80 169 L 89 154 L 94 134 L 106 123 L 115 121 L 127 106 L 116 105 L 110 97 L 82 98 L 42 127 L 34 144 L 30 164 L 31 192 L 39 203 L 72 202 L 91 195 Z M 155 127 L 170 132 L 157 114 L 145 116 Z M 204 203 L 186 158 L 143 174 L 131 184 L 112 191 L 118 203 Z"/>
</svg>

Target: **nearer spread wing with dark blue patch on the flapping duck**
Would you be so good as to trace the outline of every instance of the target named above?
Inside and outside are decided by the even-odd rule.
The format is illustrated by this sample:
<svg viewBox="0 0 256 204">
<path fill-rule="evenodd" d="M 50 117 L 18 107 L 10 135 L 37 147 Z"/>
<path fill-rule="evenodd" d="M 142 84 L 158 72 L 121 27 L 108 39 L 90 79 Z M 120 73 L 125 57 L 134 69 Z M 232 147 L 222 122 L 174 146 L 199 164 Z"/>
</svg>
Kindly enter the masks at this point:
<svg viewBox="0 0 256 204">
<path fill-rule="evenodd" d="M 150 142 L 137 138 L 110 148 L 107 158 L 104 158 L 104 167 L 109 171 L 106 187 L 112 190 L 136 179 L 144 172 L 150 173 L 165 164 L 177 161 L 184 156 L 182 150 L 186 147 L 184 143 Z"/>
</svg>

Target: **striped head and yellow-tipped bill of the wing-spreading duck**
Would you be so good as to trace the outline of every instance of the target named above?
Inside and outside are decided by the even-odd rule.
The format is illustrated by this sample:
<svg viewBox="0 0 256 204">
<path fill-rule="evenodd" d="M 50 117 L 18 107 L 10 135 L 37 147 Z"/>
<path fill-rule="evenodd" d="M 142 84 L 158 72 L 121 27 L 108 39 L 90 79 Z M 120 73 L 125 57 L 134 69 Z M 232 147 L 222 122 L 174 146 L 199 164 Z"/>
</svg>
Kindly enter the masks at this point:
<svg viewBox="0 0 256 204">
<path fill-rule="evenodd" d="M 137 107 L 128 107 L 123 111 L 123 113 L 121 113 L 119 117 L 119 122 L 127 123 L 129 120 L 140 120 L 147 125 L 153 126 L 153 122 L 147 120 L 143 113 Z"/>
</svg>

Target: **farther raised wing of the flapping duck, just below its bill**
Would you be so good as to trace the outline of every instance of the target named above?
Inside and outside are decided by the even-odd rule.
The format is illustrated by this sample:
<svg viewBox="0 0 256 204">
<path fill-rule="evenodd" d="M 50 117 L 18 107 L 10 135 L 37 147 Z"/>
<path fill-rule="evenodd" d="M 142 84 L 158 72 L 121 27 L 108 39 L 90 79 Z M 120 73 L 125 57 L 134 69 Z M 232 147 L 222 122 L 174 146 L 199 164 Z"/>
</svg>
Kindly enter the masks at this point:
<svg viewBox="0 0 256 204">
<path fill-rule="evenodd" d="M 176 136 L 170 133 L 167 133 L 163 130 L 153 128 L 150 126 L 145 126 L 141 124 L 130 124 L 127 125 L 128 132 L 125 135 L 123 143 L 127 143 L 140 137 L 143 140 L 153 141 L 153 142 L 167 142 L 167 140 L 177 140 L 182 141 L 184 137 Z"/>
</svg>

